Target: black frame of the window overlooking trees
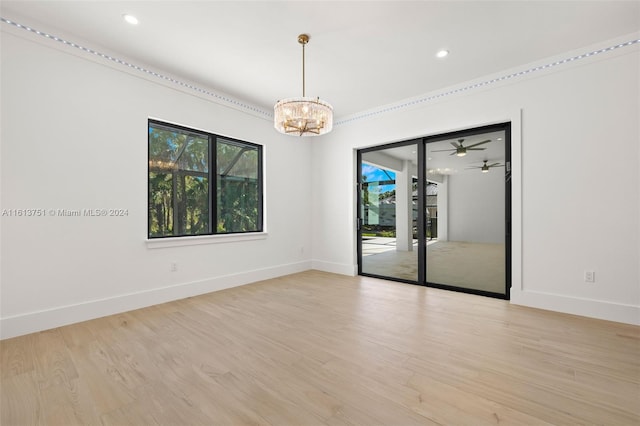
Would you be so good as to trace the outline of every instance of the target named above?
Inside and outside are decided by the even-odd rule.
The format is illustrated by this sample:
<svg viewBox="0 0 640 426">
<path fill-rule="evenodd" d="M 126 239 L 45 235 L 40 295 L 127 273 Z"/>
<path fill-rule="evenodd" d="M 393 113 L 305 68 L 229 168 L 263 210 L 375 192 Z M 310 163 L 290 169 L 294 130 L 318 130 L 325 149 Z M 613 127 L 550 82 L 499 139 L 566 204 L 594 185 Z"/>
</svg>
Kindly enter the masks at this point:
<svg viewBox="0 0 640 426">
<path fill-rule="evenodd" d="M 189 133 L 193 135 L 198 135 L 202 138 L 207 138 L 208 140 L 208 172 L 189 172 L 188 174 L 194 175 L 203 175 L 206 174 L 208 179 L 208 197 L 209 197 L 209 229 L 208 232 L 198 233 L 198 234 L 176 234 L 177 227 L 175 225 L 175 221 L 173 223 L 173 234 L 170 235 L 152 235 L 151 233 L 151 225 L 152 225 L 152 216 L 151 216 L 151 179 L 150 174 L 152 172 L 151 166 L 151 136 L 150 130 L 152 127 L 160 127 L 167 130 L 175 130 L 177 132 Z M 250 147 L 250 149 L 255 149 L 257 152 L 257 178 L 256 178 L 256 189 L 257 189 L 257 218 L 256 218 L 256 228 L 248 231 L 218 231 L 218 166 L 217 166 L 217 147 L 218 140 L 220 143 L 231 143 L 237 144 L 241 146 Z M 255 234 L 264 232 L 264 185 L 263 185 L 263 145 L 247 142 L 240 139 L 232 138 L 229 136 L 218 135 L 212 132 L 193 129 L 190 127 L 168 123 L 165 121 L 148 119 L 147 121 L 147 238 L 149 240 L 161 240 L 164 238 L 183 238 L 183 237 L 201 237 L 201 236 L 211 236 L 211 235 L 243 235 L 243 234 Z M 172 198 L 175 202 L 176 195 L 172 194 Z M 174 212 L 174 215 L 176 213 Z M 175 220 L 175 219 L 174 219 Z"/>
</svg>

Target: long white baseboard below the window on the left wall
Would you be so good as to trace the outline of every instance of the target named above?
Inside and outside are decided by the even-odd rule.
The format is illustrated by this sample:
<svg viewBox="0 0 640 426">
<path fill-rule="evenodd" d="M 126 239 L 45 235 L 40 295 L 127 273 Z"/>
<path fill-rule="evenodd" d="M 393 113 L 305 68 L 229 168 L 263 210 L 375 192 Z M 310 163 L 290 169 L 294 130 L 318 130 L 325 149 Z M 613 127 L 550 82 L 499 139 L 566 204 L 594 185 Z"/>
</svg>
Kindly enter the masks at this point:
<svg viewBox="0 0 640 426">
<path fill-rule="evenodd" d="M 311 261 L 291 263 L 1 318 L 0 339 L 35 333 L 309 269 L 311 269 Z"/>
</svg>

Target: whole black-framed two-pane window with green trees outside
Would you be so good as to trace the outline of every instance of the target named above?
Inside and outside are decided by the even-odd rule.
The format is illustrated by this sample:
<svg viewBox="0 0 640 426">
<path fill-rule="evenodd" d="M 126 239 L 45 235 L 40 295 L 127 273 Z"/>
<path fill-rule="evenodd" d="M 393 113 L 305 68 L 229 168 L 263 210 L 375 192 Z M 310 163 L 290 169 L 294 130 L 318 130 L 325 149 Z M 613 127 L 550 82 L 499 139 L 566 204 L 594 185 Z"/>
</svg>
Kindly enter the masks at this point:
<svg viewBox="0 0 640 426">
<path fill-rule="evenodd" d="M 262 146 L 149 120 L 149 238 L 262 231 Z"/>
</svg>

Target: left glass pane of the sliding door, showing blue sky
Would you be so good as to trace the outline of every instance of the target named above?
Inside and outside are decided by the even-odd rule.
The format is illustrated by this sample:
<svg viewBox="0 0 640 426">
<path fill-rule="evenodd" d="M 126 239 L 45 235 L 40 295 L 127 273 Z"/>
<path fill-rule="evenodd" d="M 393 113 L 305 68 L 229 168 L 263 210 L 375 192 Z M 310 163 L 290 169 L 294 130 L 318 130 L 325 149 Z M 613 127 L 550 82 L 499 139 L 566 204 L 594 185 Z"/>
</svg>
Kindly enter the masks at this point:
<svg viewBox="0 0 640 426">
<path fill-rule="evenodd" d="M 418 281 L 418 146 L 359 153 L 359 273 Z"/>
</svg>

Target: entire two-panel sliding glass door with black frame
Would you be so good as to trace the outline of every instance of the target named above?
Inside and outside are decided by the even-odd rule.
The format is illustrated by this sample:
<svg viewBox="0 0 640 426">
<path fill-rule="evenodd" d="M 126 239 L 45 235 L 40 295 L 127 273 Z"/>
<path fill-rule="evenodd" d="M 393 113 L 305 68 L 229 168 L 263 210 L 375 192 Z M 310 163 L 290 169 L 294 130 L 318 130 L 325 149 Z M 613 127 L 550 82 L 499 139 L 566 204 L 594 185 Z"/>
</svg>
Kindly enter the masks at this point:
<svg viewBox="0 0 640 426">
<path fill-rule="evenodd" d="M 510 285 L 510 125 L 358 152 L 358 272 L 500 298 Z"/>
</svg>

